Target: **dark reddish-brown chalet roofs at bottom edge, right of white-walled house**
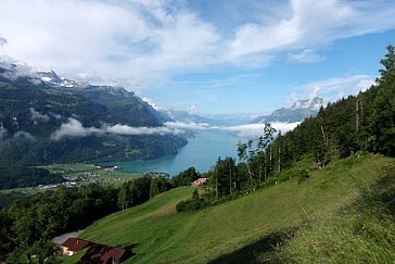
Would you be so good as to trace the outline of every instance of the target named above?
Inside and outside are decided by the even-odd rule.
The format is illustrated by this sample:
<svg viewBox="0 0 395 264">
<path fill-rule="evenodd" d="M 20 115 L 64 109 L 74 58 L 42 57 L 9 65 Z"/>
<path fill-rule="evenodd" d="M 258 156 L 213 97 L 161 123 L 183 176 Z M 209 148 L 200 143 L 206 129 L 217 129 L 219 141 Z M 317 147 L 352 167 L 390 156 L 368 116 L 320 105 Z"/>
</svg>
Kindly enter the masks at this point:
<svg viewBox="0 0 395 264">
<path fill-rule="evenodd" d="M 118 264 L 131 256 L 131 252 L 104 244 L 92 244 L 78 264 Z"/>
</svg>

